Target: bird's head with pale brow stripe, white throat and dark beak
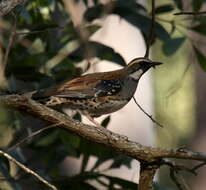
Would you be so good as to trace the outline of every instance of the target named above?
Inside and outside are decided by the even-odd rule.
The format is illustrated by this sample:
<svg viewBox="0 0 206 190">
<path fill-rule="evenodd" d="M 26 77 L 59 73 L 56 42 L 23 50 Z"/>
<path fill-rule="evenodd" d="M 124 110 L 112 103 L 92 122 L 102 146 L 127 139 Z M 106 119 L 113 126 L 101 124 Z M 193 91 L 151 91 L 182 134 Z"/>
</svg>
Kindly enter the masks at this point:
<svg viewBox="0 0 206 190">
<path fill-rule="evenodd" d="M 139 80 L 139 78 L 151 67 L 155 68 L 156 65 L 160 65 L 160 62 L 154 62 L 147 58 L 135 58 L 129 62 L 125 67 L 126 73 L 132 77 L 134 80 Z"/>
</svg>

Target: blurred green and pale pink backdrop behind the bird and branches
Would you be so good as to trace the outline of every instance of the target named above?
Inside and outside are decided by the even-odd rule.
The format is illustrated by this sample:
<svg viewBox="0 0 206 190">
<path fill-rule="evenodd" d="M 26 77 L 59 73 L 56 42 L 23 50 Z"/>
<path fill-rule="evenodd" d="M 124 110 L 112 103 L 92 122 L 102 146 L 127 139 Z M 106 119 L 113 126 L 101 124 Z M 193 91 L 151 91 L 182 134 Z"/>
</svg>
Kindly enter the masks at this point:
<svg viewBox="0 0 206 190">
<path fill-rule="evenodd" d="M 122 110 L 98 118 L 109 130 L 149 146 L 205 152 L 206 15 L 204 0 L 156 0 L 152 60 L 164 64 L 140 80 L 135 98 L 164 128 L 131 100 Z M 151 0 L 30 0 L 0 20 L 0 84 L 24 93 L 86 73 L 115 70 L 143 57 L 151 25 Z M 74 119 L 88 121 L 70 110 Z M 137 189 L 139 164 L 25 113 L 0 107 L 0 146 L 60 190 Z M 47 189 L 0 158 L 0 189 Z M 178 161 L 191 166 L 189 161 Z M 183 174 L 192 190 L 205 189 L 206 169 Z M 32 184 L 32 185 L 31 185 Z M 175 190 L 169 170 L 160 169 L 157 190 Z"/>
</svg>

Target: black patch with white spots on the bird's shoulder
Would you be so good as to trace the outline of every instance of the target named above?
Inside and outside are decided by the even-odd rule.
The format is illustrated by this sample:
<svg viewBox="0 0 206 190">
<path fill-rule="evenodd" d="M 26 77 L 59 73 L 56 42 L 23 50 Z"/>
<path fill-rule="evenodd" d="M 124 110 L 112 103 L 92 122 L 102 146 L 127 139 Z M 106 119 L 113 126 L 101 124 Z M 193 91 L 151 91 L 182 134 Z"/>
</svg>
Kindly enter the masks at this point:
<svg viewBox="0 0 206 190">
<path fill-rule="evenodd" d="M 102 80 L 96 87 L 95 97 L 111 96 L 119 93 L 122 89 L 121 80 Z"/>
</svg>

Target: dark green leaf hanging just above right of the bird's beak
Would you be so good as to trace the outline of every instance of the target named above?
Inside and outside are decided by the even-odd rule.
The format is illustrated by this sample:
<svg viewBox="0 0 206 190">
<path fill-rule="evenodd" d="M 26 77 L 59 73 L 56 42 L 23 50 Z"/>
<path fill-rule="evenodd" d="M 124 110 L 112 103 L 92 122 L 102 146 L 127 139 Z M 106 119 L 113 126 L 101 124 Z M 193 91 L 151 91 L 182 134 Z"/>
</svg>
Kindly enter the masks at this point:
<svg viewBox="0 0 206 190">
<path fill-rule="evenodd" d="M 185 37 L 166 40 L 162 46 L 163 52 L 165 53 L 165 55 L 174 54 L 180 48 L 184 41 Z"/>
</svg>

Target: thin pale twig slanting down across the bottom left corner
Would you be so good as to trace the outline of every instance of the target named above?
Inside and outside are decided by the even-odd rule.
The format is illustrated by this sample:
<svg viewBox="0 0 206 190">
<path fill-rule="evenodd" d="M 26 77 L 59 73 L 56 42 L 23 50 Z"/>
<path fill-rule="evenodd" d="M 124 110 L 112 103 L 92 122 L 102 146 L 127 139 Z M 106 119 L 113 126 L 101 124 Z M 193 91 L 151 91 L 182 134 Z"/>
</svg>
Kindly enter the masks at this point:
<svg viewBox="0 0 206 190">
<path fill-rule="evenodd" d="M 6 152 L 0 150 L 0 155 L 4 156 L 5 158 L 7 158 L 9 161 L 15 163 L 17 166 L 19 166 L 22 170 L 24 170 L 26 173 L 33 175 L 34 177 L 36 177 L 39 181 L 41 181 L 42 183 L 44 183 L 45 185 L 47 185 L 48 187 L 50 187 L 53 190 L 58 190 L 54 185 L 50 184 L 48 181 L 46 181 L 44 178 L 42 178 L 40 175 L 38 175 L 36 172 L 34 172 L 33 170 L 27 168 L 24 164 L 21 164 L 20 162 L 18 162 L 15 158 L 13 158 L 12 156 L 10 156 L 9 154 L 7 154 Z"/>
</svg>

